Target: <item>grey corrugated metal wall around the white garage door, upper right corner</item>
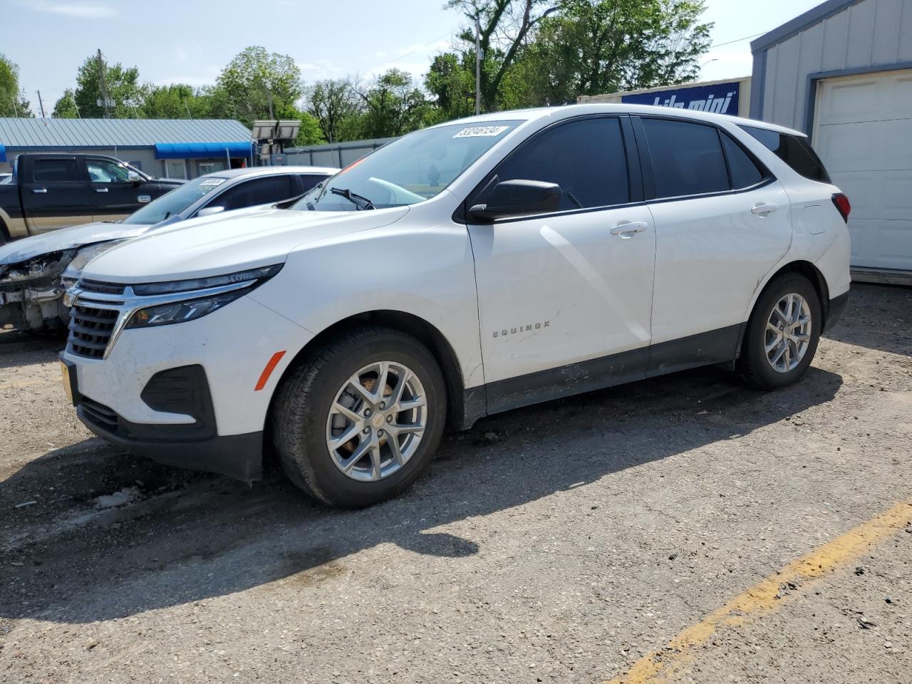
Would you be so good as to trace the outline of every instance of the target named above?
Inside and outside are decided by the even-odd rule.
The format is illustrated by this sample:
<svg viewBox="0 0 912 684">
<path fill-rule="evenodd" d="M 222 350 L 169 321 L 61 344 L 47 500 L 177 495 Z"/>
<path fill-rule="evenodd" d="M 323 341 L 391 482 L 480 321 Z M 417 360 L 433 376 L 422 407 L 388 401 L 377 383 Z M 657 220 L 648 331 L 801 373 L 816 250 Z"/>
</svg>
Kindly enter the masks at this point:
<svg viewBox="0 0 912 684">
<path fill-rule="evenodd" d="M 761 118 L 809 133 L 809 75 L 878 65 L 886 70 L 907 62 L 912 0 L 863 0 L 766 51 Z"/>
</svg>

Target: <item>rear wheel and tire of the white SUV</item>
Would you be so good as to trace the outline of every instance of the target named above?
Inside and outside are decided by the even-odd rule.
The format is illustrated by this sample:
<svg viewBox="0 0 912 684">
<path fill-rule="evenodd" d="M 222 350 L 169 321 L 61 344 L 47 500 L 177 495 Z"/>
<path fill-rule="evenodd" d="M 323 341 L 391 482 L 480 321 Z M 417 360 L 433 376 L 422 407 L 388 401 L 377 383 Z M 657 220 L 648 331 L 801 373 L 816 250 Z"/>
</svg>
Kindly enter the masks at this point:
<svg viewBox="0 0 912 684">
<path fill-rule="evenodd" d="M 820 340 L 820 297 L 803 275 L 781 275 L 767 285 L 744 332 L 737 370 L 755 389 L 777 389 L 800 379 Z"/>
</svg>

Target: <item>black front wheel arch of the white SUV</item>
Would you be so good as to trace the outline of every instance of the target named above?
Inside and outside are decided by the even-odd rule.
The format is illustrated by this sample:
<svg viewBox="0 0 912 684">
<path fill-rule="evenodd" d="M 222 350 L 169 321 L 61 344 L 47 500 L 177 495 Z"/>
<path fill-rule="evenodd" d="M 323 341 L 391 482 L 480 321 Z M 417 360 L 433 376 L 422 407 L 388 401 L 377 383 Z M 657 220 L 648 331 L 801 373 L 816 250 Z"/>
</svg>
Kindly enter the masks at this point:
<svg viewBox="0 0 912 684">
<path fill-rule="evenodd" d="M 326 343 L 327 340 L 337 335 L 342 330 L 351 329 L 358 326 L 383 326 L 393 330 L 415 337 L 428 348 L 438 365 L 440 372 L 443 374 L 443 380 L 447 389 L 447 428 L 450 430 L 462 430 L 469 427 L 479 416 L 479 408 L 473 406 L 476 402 L 473 400 L 476 393 L 471 390 L 465 391 L 465 381 L 462 377 L 459 358 L 450 341 L 440 332 L 440 330 L 430 324 L 424 318 L 409 314 L 404 311 L 392 309 L 378 309 L 375 311 L 366 311 L 352 316 L 347 316 L 326 327 L 313 337 L 307 344 L 302 347 L 291 363 L 285 368 L 282 377 L 279 378 L 275 385 L 273 398 L 270 400 L 266 424 L 272 420 L 273 402 L 278 395 L 278 388 L 282 386 L 285 379 L 302 365 L 306 364 L 308 359 L 312 358 L 316 350 Z"/>
</svg>

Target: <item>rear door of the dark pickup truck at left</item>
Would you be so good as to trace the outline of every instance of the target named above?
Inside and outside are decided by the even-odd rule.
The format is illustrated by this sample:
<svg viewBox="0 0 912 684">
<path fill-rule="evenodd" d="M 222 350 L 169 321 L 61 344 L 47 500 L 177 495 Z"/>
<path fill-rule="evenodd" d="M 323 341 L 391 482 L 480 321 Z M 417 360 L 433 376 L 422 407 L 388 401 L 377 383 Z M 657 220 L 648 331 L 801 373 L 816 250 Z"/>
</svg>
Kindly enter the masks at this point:
<svg viewBox="0 0 912 684">
<path fill-rule="evenodd" d="M 29 233 L 92 221 L 95 192 L 82 158 L 42 156 L 30 161 L 32 171 L 19 178 Z"/>
</svg>

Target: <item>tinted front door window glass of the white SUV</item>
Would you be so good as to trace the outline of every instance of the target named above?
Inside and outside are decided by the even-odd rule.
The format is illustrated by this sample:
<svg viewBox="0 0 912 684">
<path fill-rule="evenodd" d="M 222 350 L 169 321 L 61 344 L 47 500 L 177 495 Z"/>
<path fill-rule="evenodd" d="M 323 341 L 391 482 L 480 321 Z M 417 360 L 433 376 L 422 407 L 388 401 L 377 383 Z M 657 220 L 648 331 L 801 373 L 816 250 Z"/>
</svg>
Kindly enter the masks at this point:
<svg viewBox="0 0 912 684">
<path fill-rule="evenodd" d="M 583 119 L 545 130 L 513 152 L 496 174 L 497 181 L 557 183 L 561 211 L 630 200 L 627 156 L 617 119 Z M 492 189 L 489 183 L 486 192 Z"/>
</svg>

